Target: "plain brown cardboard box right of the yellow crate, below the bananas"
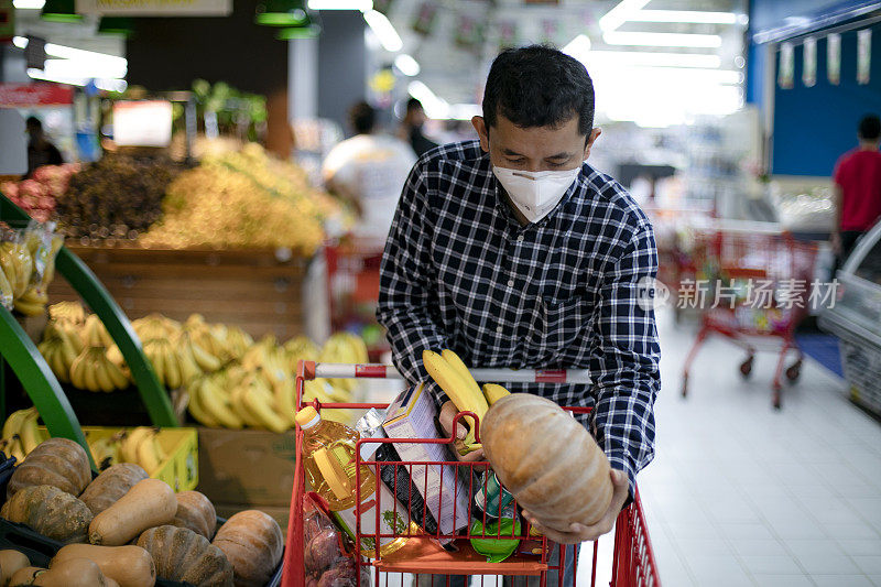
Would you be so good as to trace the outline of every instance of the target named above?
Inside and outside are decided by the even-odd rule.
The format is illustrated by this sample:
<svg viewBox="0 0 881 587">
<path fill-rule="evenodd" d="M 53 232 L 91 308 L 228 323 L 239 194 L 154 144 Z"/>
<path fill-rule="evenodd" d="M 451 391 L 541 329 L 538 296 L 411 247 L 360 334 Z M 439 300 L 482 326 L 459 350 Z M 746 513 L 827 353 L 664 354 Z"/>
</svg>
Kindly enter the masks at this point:
<svg viewBox="0 0 881 587">
<path fill-rule="evenodd" d="M 215 503 L 289 508 L 296 438 L 253 430 L 198 427 L 198 490 Z M 268 512 L 269 513 L 269 512 Z"/>
</svg>

